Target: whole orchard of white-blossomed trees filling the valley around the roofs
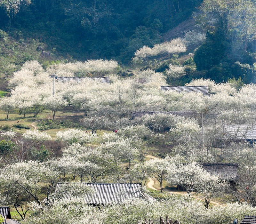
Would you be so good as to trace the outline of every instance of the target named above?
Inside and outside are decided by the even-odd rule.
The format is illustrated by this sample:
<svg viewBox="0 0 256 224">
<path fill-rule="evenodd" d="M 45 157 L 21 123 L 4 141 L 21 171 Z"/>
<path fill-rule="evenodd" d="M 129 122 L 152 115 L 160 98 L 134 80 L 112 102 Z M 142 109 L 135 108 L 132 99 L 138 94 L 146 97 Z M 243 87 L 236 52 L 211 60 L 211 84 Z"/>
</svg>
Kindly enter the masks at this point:
<svg viewBox="0 0 256 224">
<path fill-rule="evenodd" d="M 193 31 L 184 39 L 145 46 L 137 50 L 133 62 L 185 52 L 188 43 L 196 45 L 204 38 Z M 130 78 L 118 76 L 119 69 L 113 60 L 60 63 L 48 68 L 27 61 L 14 72 L 9 83 L 11 94 L 0 101 L 6 120 L 13 113 L 25 118 L 46 110 L 57 120 L 61 110 L 71 107 L 83 114 L 76 122 L 89 132 L 60 130 L 56 139 L 37 130 L 1 132 L 0 203 L 12 205 L 23 220 L 33 210 L 25 222 L 32 224 L 136 224 L 167 214 L 181 223 L 217 224 L 256 215 L 254 145 L 230 140 L 224 132 L 225 124 L 255 124 L 256 85 L 237 88 L 234 82 L 195 79 L 186 85 L 206 85 L 210 96 L 161 91 L 166 79 L 184 76 L 185 68 L 170 64 L 165 73 L 142 69 Z M 109 76 L 110 83 L 55 80 L 53 95 L 52 75 Z M 144 111 L 144 115 L 132 117 L 136 111 Z M 98 134 L 98 130 L 104 133 Z M 146 156 L 152 152 L 158 158 Z M 236 189 L 201 165 L 220 162 L 239 164 Z M 144 186 L 148 180 L 159 182 L 161 193 L 168 189 L 166 185 L 182 186 L 187 196 L 171 195 L 155 204 L 135 200 L 102 208 L 75 198 L 52 201 L 51 206 L 41 204 L 43 196 L 54 192 L 57 182 L 137 182 Z M 191 196 L 194 194 L 200 200 Z M 233 204 L 210 208 L 212 198 L 224 196 Z"/>
</svg>

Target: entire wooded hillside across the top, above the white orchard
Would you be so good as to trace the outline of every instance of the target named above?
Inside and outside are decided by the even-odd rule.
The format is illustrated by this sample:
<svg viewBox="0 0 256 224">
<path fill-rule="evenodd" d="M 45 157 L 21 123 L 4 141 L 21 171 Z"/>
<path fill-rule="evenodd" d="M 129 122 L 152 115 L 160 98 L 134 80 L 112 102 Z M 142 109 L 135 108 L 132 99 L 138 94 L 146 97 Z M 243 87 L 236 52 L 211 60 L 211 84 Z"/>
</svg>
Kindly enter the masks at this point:
<svg viewBox="0 0 256 224">
<path fill-rule="evenodd" d="M 51 60 L 99 58 L 134 66 L 131 59 L 137 49 L 176 38 L 168 32 L 193 17 L 191 29 L 206 34 L 203 41 L 193 44 L 191 37 L 186 52 L 149 56 L 140 68 L 164 72 L 170 63 L 186 67 L 182 77 L 167 76 L 169 84 L 201 77 L 255 82 L 253 0 L 6 0 L 0 2 L 0 16 L 1 64 L 11 61 L 19 67 L 27 60 L 45 61 L 34 52 L 37 46 L 52 55 L 45 66 L 54 63 Z M 188 28 L 180 29 L 182 38 Z"/>
</svg>

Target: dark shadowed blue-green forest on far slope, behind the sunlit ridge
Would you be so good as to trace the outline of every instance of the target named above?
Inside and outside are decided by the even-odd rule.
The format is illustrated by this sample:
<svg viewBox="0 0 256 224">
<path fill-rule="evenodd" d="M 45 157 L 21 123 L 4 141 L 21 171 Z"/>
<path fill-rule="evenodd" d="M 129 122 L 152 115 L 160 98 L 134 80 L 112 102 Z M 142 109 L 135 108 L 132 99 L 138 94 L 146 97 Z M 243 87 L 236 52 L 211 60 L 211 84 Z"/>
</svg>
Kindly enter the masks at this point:
<svg viewBox="0 0 256 224">
<path fill-rule="evenodd" d="M 7 1 L 8 2 L 8 1 Z M 188 18 L 201 0 L 32 0 L 1 4 L 1 27 L 40 39 L 75 59 L 128 61 L 143 45 Z M 19 12 L 18 12 L 19 11 Z"/>
</svg>

